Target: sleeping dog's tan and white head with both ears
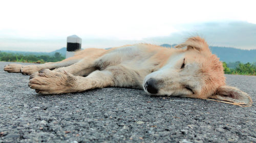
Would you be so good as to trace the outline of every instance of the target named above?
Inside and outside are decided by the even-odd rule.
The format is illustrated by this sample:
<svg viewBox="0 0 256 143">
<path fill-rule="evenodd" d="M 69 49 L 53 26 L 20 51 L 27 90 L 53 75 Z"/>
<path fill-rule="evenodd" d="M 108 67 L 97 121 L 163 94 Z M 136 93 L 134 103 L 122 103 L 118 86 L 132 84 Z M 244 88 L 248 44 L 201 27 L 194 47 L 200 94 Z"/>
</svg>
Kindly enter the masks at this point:
<svg viewBox="0 0 256 143">
<path fill-rule="evenodd" d="M 225 85 L 222 63 L 210 52 L 204 39 L 192 37 L 175 47 L 185 46 L 186 49 L 173 52 L 163 67 L 145 77 L 143 87 L 147 94 L 252 104 L 248 94 Z"/>
</svg>

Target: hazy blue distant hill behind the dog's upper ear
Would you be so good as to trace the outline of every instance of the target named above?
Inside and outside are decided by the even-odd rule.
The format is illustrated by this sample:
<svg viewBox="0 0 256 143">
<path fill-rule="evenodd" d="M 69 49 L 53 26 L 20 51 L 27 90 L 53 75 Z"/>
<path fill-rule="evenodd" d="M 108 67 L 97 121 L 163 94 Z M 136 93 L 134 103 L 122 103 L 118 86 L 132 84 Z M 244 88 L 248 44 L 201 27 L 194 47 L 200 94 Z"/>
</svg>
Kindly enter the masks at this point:
<svg viewBox="0 0 256 143">
<path fill-rule="evenodd" d="M 174 45 L 162 44 L 160 46 L 163 47 L 174 47 Z M 237 62 L 240 61 L 242 63 L 253 63 L 256 62 L 256 49 L 253 50 L 243 50 L 236 49 L 231 47 L 218 47 L 218 46 L 209 46 L 212 53 L 216 54 L 221 61 L 229 63 L 229 62 Z"/>
</svg>

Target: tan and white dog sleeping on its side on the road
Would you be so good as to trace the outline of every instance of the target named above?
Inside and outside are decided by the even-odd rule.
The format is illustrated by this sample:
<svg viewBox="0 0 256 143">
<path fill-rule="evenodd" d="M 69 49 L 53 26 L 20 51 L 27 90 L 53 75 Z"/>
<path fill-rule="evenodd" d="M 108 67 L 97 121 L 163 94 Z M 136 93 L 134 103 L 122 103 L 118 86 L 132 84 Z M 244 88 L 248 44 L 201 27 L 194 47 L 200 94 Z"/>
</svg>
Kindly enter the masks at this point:
<svg viewBox="0 0 256 143">
<path fill-rule="evenodd" d="M 27 66 L 9 64 L 4 70 L 30 75 L 29 87 L 39 94 L 129 87 L 143 89 L 155 96 L 252 104 L 247 93 L 225 85 L 222 63 L 200 37 L 188 38 L 175 48 L 151 44 L 108 50 L 88 48 L 76 51 L 73 57 L 61 62 Z"/>
</svg>

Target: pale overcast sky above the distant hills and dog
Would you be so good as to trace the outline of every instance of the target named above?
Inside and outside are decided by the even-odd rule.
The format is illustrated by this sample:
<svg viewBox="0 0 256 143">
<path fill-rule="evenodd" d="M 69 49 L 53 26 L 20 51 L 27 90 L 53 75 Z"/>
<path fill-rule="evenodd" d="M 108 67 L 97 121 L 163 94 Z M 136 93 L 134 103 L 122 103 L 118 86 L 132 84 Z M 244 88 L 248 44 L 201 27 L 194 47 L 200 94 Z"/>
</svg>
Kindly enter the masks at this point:
<svg viewBox="0 0 256 143">
<path fill-rule="evenodd" d="M 82 47 L 175 44 L 191 35 L 210 45 L 256 49 L 253 1 L 3 1 L 0 50 L 53 51 L 67 36 Z"/>
</svg>

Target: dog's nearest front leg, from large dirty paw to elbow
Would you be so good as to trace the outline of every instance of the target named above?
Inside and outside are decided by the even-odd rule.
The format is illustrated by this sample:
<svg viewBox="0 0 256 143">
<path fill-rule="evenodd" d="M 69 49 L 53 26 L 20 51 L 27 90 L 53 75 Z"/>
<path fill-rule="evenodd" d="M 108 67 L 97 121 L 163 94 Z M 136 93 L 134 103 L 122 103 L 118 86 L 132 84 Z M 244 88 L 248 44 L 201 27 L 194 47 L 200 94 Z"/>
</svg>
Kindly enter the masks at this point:
<svg viewBox="0 0 256 143">
<path fill-rule="evenodd" d="M 45 69 L 33 73 L 29 80 L 29 87 L 39 94 L 74 93 L 109 86 L 114 86 L 111 72 L 98 70 L 81 77 Z"/>
</svg>

